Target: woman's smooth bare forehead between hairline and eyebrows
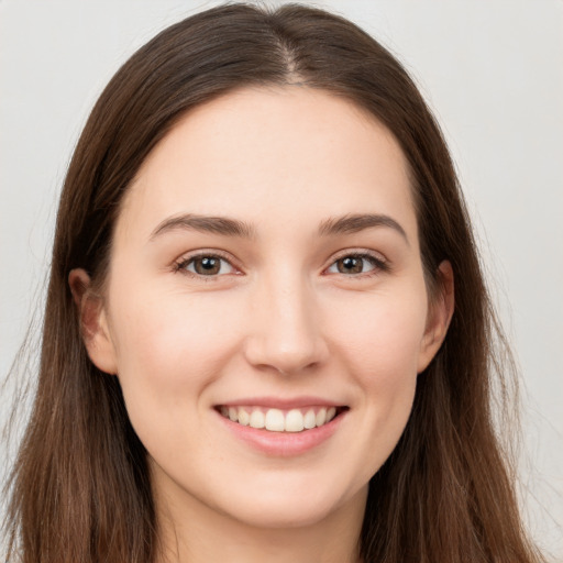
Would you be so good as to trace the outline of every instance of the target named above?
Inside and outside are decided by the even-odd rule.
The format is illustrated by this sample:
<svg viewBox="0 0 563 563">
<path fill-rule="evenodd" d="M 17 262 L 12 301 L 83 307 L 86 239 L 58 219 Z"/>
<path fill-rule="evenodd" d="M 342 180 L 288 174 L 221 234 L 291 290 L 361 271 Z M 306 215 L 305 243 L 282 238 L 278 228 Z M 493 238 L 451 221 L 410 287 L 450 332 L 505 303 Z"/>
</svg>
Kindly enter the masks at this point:
<svg viewBox="0 0 563 563">
<path fill-rule="evenodd" d="M 245 88 L 201 104 L 153 150 L 122 207 L 150 234 L 178 213 L 286 228 L 385 212 L 416 231 L 408 165 L 373 115 L 330 92 Z"/>
</svg>

